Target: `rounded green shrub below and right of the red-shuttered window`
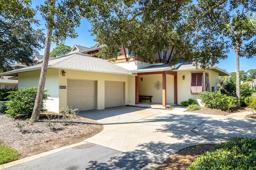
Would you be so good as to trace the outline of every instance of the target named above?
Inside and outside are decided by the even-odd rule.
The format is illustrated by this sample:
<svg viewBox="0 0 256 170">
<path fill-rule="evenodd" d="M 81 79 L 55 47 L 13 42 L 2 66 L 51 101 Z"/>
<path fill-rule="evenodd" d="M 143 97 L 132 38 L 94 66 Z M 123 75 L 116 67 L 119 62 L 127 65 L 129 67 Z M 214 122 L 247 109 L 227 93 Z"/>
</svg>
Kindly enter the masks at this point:
<svg viewBox="0 0 256 170">
<path fill-rule="evenodd" d="M 204 91 L 200 93 L 202 103 L 212 109 L 221 109 L 222 111 L 233 111 L 238 105 L 238 99 L 233 96 L 222 95 L 218 92 Z"/>
</svg>

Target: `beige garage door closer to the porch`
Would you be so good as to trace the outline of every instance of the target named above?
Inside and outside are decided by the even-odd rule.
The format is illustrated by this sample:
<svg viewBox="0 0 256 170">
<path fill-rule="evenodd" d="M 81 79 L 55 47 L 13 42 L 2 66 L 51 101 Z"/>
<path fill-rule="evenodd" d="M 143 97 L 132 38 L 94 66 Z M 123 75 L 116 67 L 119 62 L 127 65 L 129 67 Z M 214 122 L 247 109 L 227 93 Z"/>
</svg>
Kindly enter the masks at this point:
<svg viewBox="0 0 256 170">
<path fill-rule="evenodd" d="M 105 108 L 124 105 L 124 82 L 105 81 Z"/>
</svg>

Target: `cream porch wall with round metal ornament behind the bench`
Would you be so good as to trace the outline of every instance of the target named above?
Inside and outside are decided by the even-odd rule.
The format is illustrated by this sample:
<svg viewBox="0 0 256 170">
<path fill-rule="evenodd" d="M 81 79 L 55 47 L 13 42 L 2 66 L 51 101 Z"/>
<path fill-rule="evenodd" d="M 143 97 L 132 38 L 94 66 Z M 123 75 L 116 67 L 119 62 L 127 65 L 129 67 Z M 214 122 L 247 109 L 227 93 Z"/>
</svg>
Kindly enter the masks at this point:
<svg viewBox="0 0 256 170">
<path fill-rule="evenodd" d="M 143 81 L 141 81 L 143 78 Z M 156 81 L 162 81 L 162 74 L 140 75 L 139 76 L 139 95 L 152 95 L 152 102 L 162 103 L 162 87 L 157 90 L 154 88 Z M 147 100 L 143 100 L 147 101 Z M 166 103 L 174 103 L 174 76 L 166 75 Z"/>
</svg>

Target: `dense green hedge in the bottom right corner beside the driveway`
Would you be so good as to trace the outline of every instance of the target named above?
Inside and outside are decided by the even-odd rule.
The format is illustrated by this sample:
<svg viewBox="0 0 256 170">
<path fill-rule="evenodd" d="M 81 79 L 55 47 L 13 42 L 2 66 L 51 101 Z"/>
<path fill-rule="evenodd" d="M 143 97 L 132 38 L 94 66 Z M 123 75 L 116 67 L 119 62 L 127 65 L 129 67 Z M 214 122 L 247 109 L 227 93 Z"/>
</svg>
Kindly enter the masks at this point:
<svg viewBox="0 0 256 170">
<path fill-rule="evenodd" d="M 187 170 L 256 169 L 256 139 L 232 138 L 205 152 Z"/>
</svg>

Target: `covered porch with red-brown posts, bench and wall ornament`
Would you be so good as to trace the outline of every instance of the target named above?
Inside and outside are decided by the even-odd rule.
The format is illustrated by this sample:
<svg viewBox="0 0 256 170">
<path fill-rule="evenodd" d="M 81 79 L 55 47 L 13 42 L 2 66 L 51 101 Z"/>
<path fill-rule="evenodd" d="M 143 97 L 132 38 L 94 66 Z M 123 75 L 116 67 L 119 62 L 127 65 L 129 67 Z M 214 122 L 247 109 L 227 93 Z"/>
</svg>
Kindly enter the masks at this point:
<svg viewBox="0 0 256 170">
<path fill-rule="evenodd" d="M 177 72 L 167 65 L 158 65 L 132 71 L 135 77 L 135 105 L 168 108 L 177 104 Z M 152 102 L 140 101 L 140 96 L 152 96 Z"/>
</svg>

